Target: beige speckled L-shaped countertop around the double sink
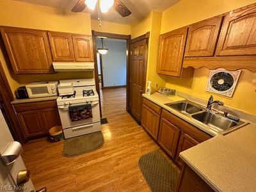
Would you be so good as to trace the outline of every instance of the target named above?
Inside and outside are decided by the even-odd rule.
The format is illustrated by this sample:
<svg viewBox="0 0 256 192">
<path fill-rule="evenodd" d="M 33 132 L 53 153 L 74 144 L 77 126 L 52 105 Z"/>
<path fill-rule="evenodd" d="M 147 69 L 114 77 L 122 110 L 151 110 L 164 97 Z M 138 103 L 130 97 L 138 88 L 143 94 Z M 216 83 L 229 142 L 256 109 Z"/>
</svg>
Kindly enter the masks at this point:
<svg viewBox="0 0 256 192">
<path fill-rule="evenodd" d="M 143 97 L 205 131 L 201 124 L 164 105 L 184 98 L 159 93 L 143 94 Z M 214 191 L 255 191 L 256 124 L 245 125 L 225 136 L 211 135 L 214 137 L 210 140 L 181 152 L 183 161 Z"/>
</svg>

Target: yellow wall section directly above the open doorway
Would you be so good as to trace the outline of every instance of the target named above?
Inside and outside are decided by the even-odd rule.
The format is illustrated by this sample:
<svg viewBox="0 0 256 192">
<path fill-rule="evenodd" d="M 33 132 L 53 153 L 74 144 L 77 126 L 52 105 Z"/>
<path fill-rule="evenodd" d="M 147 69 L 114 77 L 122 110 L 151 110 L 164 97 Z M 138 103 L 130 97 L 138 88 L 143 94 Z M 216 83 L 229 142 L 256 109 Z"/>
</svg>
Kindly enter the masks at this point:
<svg viewBox="0 0 256 192">
<path fill-rule="evenodd" d="M 102 26 L 99 26 L 98 20 L 91 20 L 92 30 L 104 32 L 104 33 L 115 33 L 121 35 L 131 35 L 131 26 L 125 24 L 118 24 L 115 22 L 102 21 Z"/>
</svg>

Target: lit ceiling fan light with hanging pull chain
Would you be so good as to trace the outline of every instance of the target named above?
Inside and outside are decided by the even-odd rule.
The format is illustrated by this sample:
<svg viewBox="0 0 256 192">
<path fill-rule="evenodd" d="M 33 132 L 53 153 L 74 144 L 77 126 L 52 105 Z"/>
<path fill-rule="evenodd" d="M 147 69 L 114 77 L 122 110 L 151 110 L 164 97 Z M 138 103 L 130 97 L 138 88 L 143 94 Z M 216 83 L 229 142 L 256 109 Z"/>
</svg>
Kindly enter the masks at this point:
<svg viewBox="0 0 256 192">
<path fill-rule="evenodd" d="M 114 0 L 85 0 L 84 3 L 90 10 L 95 10 L 97 5 L 98 20 L 101 27 L 101 13 L 106 13 L 113 6 Z"/>
</svg>

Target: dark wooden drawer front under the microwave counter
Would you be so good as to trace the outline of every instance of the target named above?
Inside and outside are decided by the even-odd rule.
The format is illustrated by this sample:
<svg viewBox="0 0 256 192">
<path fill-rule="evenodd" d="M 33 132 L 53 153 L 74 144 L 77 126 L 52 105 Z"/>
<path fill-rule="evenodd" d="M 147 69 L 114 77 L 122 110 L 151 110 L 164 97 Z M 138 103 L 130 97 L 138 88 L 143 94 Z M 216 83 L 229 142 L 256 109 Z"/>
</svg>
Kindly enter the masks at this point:
<svg viewBox="0 0 256 192">
<path fill-rule="evenodd" d="M 14 104 L 15 111 L 22 112 L 22 111 L 29 111 L 29 110 L 36 110 L 36 109 L 45 109 L 45 108 L 57 108 L 56 100 L 47 100 L 47 101 L 40 101 L 40 102 L 27 102 L 22 104 Z"/>
</svg>

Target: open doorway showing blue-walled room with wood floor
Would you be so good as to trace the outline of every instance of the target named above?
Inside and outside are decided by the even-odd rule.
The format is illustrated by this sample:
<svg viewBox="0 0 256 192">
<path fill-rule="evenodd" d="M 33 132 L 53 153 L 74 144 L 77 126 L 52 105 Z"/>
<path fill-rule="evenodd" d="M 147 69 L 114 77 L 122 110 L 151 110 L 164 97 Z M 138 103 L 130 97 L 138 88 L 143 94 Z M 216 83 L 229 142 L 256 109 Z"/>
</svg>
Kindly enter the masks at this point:
<svg viewBox="0 0 256 192">
<path fill-rule="evenodd" d="M 100 54 L 97 48 L 108 49 L 106 54 Z M 127 111 L 127 90 L 129 90 L 129 44 L 131 36 L 116 35 L 93 31 L 93 46 L 95 55 L 95 82 L 100 95 L 100 115 L 111 118 L 113 110 Z M 115 104 L 115 107 L 114 107 Z M 114 110 L 115 111 L 115 110 Z M 116 111 L 120 113 L 121 111 Z"/>
</svg>

